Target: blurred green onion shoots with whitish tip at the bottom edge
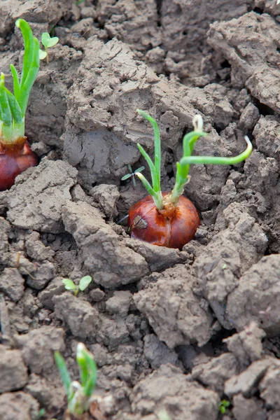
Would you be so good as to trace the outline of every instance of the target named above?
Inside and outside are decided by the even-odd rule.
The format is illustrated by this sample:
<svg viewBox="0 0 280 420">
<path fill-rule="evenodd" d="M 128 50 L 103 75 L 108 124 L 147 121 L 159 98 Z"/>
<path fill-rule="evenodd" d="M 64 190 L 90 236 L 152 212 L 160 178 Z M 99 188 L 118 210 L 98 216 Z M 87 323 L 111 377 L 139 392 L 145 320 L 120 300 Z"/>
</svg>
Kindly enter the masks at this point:
<svg viewBox="0 0 280 420">
<path fill-rule="evenodd" d="M 76 360 L 80 371 L 80 382 L 71 381 L 64 358 L 59 351 L 55 351 L 55 363 L 66 392 L 68 411 L 73 417 L 87 412 L 94 400 L 93 391 L 97 381 L 97 365 L 92 353 L 83 343 L 78 343 Z"/>
</svg>

